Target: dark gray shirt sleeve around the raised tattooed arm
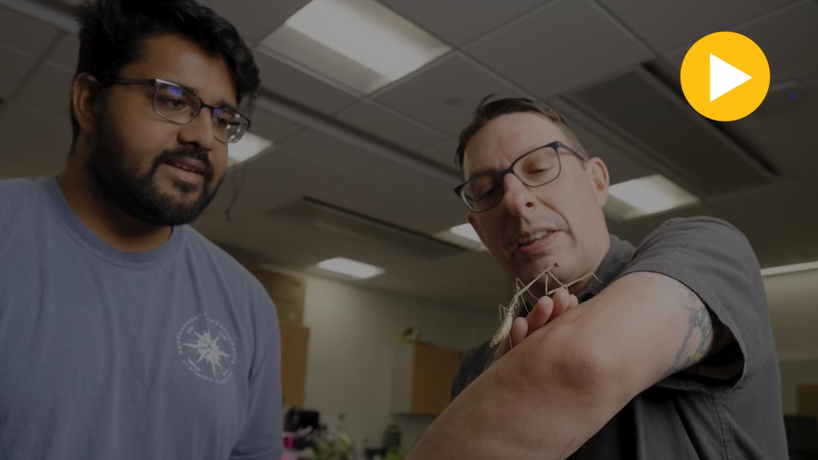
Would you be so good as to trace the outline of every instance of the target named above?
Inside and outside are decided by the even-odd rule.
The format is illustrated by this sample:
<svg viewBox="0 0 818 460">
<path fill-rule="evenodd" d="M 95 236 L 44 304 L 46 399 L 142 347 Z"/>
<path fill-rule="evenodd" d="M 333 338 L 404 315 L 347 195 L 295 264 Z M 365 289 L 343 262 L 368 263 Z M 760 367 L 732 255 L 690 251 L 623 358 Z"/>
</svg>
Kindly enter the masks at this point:
<svg viewBox="0 0 818 460">
<path fill-rule="evenodd" d="M 721 219 L 670 219 L 636 249 L 620 273 L 653 272 L 672 277 L 694 291 L 720 325 L 730 345 L 657 386 L 717 391 L 738 386 L 773 362 L 766 295 L 752 246 L 737 228 Z"/>
</svg>

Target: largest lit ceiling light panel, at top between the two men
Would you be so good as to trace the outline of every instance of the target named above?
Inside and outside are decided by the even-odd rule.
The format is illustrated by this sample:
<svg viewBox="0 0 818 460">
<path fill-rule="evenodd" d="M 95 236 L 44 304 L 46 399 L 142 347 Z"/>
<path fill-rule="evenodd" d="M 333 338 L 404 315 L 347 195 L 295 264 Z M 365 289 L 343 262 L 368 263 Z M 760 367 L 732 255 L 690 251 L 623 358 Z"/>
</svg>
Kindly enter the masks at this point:
<svg viewBox="0 0 818 460">
<path fill-rule="evenodd" d="M 375 0 L 312 0 L 261 45 L 364 94 L 452 50 Z"/>
</svg>

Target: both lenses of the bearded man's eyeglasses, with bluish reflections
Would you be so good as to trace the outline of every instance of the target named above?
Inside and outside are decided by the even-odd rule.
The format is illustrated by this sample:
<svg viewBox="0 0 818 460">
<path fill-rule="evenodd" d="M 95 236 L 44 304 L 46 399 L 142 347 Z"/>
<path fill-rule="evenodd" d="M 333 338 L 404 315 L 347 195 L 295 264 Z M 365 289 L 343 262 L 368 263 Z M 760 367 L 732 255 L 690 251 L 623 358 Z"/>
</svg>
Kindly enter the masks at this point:
<svg viewBox="0 0 818 460">
<path fill-rule="evenodd" d="M 201 102 L 196 95 L 173 85 L 160 83 L 154 96 L 154 110 L 178 124 L 187 124 L 198 115 Z M 232 110 L 213 109 L 213 136 L 222 142 L 236 142 L 246 129 L 246 120 Z"/>
</svg>

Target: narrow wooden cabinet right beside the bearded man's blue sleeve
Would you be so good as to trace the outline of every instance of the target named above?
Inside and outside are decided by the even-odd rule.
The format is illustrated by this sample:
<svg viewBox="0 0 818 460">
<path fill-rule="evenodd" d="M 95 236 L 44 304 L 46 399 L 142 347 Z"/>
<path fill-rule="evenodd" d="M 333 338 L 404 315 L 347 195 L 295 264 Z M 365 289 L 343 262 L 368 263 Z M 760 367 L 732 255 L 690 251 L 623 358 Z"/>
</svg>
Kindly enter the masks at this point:
<svg viewBox="0 0 818 460">
<path fill-rule="evenodd" d="M 307 383 L 309 329 L 281 322 L 281 404 L 301 407 Z"/>
</svg>

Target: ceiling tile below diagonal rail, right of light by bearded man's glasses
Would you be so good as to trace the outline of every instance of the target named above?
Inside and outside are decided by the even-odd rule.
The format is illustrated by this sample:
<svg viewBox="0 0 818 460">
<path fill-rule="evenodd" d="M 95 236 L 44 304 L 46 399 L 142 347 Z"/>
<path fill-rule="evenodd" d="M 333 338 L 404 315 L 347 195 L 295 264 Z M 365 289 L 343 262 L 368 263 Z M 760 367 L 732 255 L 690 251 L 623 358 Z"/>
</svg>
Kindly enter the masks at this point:
<svg viewBox="0 0 818 460">
<path fill-rule="evenodd" d="M 380 156 L 310 130 L 287 139 L 284 145 L 349 174 L 365 173 L 391 164 Z"/>
</svg>

